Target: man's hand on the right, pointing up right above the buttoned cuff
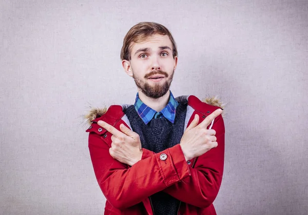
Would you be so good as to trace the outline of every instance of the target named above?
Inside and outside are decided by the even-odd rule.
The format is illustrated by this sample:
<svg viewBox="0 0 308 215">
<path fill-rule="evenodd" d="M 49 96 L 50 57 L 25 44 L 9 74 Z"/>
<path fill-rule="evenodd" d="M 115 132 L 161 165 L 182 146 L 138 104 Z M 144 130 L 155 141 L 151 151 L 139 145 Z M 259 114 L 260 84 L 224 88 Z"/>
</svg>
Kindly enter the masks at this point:
<svg viewBox="0 0 308 215">
<path fill-rule="evenodd" d="M 219 116 L 221 112 L 221 109 L 215 110 L 199 125 L 199 115 L 195 115 L 195 119 L 184 131 L 180 142 L 186 161 L 199 157 L 210 149 L 217 147 L 216 131 L 214 129 L 207 129 L 207 126 Z"/>
</svg>

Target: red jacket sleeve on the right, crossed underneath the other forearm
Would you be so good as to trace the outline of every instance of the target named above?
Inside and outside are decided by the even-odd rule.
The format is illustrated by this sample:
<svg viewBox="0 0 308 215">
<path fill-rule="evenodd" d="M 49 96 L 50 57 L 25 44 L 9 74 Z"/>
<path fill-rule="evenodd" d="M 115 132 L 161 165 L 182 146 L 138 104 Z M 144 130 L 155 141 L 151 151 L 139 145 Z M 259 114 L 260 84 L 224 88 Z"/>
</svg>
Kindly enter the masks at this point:
<svg viewBox="0 0 308 215">
<path fill-rule="evenodd" d="M 221 115 L 215 119 L 212 129 L 216 131 L 218 146 L 198 157 L 194 168 L 189 165 L 190 177 L 163 190 L 182 202 L 201 208 L 214 202 L 223 174 L 225 129 Z M 145 149 L 142 158 L 146 159 L 151 153 L 154 152 Z M 181 151 L 178 156 L 182 154 Z"/>
</svg>

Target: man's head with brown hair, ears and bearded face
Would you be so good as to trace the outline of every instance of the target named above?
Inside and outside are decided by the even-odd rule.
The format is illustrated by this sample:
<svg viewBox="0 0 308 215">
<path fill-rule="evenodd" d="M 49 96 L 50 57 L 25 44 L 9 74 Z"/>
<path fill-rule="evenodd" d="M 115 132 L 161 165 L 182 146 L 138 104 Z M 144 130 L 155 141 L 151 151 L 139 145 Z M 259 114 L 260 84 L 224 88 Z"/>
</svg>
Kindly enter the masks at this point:
<svg viewBox="0 0 308 215">
<path fill-rule="evenodd" d="M 157 99 L 169 90 L 177 66 L 177 46 L 166 27 L 143 22 L 124 37 L 121 60 L 139 90 Z"/>
</svg>

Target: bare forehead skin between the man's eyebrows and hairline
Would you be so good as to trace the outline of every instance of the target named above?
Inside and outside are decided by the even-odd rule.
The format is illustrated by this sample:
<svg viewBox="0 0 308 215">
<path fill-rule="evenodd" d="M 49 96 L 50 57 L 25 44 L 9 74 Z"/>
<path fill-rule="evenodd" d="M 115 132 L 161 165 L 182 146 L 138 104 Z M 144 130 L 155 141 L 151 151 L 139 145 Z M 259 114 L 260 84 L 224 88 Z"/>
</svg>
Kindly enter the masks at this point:
<svg viewBox="0 0 308 215">
<path fill-rule="evenodd" d="M 131 53 L 140 49 L 140 48 L 158 48 L 161 46 L 169 46 L 172 49 L 172 43 L 168 35 L 161 35 L 161 34 L 153 34 L 148 36 L 145 41 L 132 43 L 131 45 Z"/>
</svg>

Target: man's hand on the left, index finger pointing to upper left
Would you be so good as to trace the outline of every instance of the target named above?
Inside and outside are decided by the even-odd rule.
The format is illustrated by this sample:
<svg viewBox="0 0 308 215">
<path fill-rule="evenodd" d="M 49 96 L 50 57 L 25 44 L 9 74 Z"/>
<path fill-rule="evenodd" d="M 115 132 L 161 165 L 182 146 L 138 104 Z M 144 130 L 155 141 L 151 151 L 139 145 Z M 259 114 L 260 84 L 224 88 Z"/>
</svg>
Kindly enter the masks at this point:
<svg viewBox="0 0 308 215">
<path fill-rule="evenodd" d="M 98 124 L 112 134 L 111 148 L 109 148 L 112 158 L 130 166 L 141 160 L 142 147 L 138 133 L 123 124 L 120 125 L 121 131 L 102 120 Z"/>
</svg>

